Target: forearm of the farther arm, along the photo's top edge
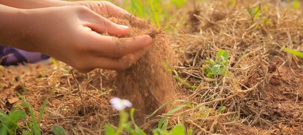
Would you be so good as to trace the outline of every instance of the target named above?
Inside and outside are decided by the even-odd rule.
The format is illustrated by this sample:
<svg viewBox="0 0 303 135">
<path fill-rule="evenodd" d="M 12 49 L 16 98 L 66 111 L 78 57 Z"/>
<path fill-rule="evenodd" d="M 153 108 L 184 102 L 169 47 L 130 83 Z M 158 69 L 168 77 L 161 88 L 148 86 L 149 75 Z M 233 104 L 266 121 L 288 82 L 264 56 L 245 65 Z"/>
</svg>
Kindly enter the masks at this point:
<svg viewBox="0 0 303 135">
<path fill-rule="evenodd" d="M 63 0 L 0 0 L 0 4 L 15 8 L 32 9 L 70 5 L 71 2 Z"/>
</svg>

